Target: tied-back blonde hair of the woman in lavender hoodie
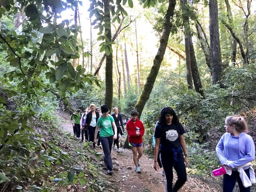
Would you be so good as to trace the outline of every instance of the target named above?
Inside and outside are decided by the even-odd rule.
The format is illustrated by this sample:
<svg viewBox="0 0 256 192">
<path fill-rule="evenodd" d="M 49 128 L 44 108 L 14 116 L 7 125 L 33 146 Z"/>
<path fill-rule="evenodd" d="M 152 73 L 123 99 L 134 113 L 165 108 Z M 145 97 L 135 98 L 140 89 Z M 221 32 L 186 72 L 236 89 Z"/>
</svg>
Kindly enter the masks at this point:
<svg viewBox="0 0 256 192">
<path fill-rule="evenodd" d="M 238 132 L 245 132 L 248 133 L 248 126 L 246 121 L 243 117 L 240 116 L 228 116 L 226 117 L 226 123 L 229 125 L 234 125 L 235 129 Z"/>
</svg>

